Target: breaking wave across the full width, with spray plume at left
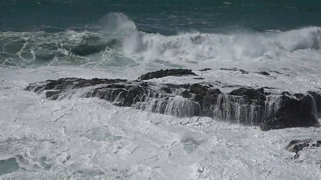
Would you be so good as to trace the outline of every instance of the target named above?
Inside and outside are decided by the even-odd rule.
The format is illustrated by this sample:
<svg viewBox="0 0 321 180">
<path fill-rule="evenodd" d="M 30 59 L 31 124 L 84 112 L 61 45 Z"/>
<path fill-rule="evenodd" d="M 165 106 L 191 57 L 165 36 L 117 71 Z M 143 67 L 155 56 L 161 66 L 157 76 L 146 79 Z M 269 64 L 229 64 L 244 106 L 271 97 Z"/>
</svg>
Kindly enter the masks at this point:
<svg viewBox="0 0 321 180">
<path fill-rule="evenodd" d="M 139 31 L 126 15 L 109 13 L 93 31 L 1 32 L 0 45 L 0 64 L 20 67 L 93 62 L 99 62 L 100 66 L 104 63 L 135 66 L 155 59 L 183 65 L 201 60 L 274 60 L 299 49 L 320 49 L 321 27 L 162 35 Z"/>
</svg>

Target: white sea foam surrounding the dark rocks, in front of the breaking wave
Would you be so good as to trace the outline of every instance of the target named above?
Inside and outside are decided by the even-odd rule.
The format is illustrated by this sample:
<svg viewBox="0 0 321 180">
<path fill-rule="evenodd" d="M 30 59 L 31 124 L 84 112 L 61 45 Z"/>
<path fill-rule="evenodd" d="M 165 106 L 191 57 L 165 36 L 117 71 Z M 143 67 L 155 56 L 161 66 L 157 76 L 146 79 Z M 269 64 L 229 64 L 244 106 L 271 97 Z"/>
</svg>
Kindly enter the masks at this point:
<svg viewBox="0 0 321 180">
<path fill-rule="evenodd" d="M 47 100 L 23 90 L 28 83 L 46 79 L 134 79 L 135 73 L 139 72 L 115 73 L 75 66 L 1 68 L 0 145 L 4 148 L 0 159 L 15 157 L 20 167 L 2 161 L 0 165 L 12 171 L 2 178 L 317 179 L 321 175 L 319 148 L 302 150 L 297 160 L 285 150 L 292 139 L 321 139 L 320 128 L 262 132 L 255 126 L 208 117 L 178 118 L 117 107 L 96 98 Z M 313 78 L 305 74 L 271 73 L 269 77 L 226 70 L 196 73 L 211 83 L 267 84 L 294 91 L 321 84 L 318 80 L 310 86 Z M 151 81 L 200 80 L 168 76 Z"/>
</svg>

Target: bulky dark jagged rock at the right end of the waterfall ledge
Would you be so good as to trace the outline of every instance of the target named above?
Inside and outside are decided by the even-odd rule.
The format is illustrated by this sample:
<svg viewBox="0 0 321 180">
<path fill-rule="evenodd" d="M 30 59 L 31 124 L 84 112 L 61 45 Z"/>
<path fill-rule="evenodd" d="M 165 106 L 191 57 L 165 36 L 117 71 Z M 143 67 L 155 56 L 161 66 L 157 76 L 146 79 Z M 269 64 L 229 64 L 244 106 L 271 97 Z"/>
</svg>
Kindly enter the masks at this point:
<svg viewBox="0 0 321 180">
<path fill-rule="evenodd" d="M 319 126 L 313 113 L 312 98 L 309 95 L 300 100 L 289 98 L 284 105 L 270 117 L 263 119 L 262 130 L 271 130 L 287 127 Z"/>
</svg>

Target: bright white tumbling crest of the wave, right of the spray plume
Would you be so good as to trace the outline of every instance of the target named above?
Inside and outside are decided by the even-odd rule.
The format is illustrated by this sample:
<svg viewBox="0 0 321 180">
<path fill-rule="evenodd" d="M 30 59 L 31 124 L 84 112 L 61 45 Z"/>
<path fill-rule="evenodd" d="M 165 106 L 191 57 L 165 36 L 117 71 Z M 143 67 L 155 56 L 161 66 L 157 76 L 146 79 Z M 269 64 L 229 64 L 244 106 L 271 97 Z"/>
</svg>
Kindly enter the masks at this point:
<svg viewBox="0 0 321 180">
<path fill-rule="evenodd" d="M 285 32 L 234 34 L 182 33 L 165 36 L 143 33 L 128 38 L 124 49 L 146 59 L 247 60 L 277 58 L 298 49 L 320 49 L 321 28 L 305 27 Z M 135 47 L 137 51 L 126 50 Z"/>
</svg>

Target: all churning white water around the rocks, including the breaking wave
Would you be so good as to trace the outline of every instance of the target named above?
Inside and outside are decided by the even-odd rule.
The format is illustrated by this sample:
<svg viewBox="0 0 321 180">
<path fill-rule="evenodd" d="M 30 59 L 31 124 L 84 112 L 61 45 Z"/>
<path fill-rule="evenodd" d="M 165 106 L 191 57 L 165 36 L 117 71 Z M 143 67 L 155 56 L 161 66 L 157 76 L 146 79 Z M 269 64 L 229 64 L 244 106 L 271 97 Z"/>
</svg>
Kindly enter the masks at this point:
<svg viewBox="0 0 321 180">
<path fill-rule="evenodd" d="M 0 32 L 2 179 L 320 179 L 320 148 L 304 148 L 298 159 L 285 149 L 293 139 L 321 139 L 320 127 L 261 131 L 77 93 L 54 101 L 24 88 L 61 77 L 135 80 L 152 70 L 189 68 L 204 79 L 147 81 L 320 91 L 321 27 L 164 35 L 139 29 L 122 13 L 104 20 L 85 30 Z M 233 67 L 249 73 L 220 69 Z"/>
</svg>

